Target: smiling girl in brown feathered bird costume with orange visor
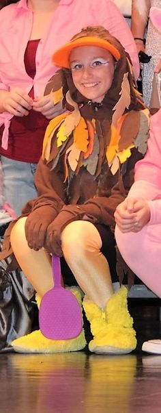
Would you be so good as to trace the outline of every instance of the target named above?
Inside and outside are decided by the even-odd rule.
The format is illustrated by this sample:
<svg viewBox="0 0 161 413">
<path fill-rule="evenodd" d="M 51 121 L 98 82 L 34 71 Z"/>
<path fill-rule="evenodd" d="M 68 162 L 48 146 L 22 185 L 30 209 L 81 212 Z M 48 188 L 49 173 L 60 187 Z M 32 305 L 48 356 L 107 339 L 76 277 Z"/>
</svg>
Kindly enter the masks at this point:
<svg viewBox="0 0 161 413">
<path fill-rule="evenodd" d="M 136 91 L 129 56 L 103 27 L 83 29 L 53 60 L 61 71 L 48 86 L 53 84 L 58 99 L 54 85 L 61 75 L 65 112 L 46 129 L 35 176 L 39 197 L 14 223 L 12 250 L 38 302 L 53 287 L 50 254 L 63 257 L 85 294 L 90 351 L 129 353 L 136 334 L 127 289 L 114 293 L 111 281 L 113 215 L 132 185 L 135 162 L 145 154 L 149 114 Z M 84 331 L 71 340 L 49 340 L 38 330 L 12 342 L 24 353 L 76 351 L 85 344 Z"/>
</svg>

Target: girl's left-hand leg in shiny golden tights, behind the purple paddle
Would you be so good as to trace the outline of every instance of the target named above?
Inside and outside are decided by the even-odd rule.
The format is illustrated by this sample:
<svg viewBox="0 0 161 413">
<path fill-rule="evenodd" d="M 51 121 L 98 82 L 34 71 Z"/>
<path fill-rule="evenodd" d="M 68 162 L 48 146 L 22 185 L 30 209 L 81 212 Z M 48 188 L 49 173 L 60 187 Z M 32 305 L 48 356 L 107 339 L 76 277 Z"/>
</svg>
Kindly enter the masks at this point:
<svg viewBox="0 0 161 413">
<path fill-rule="evenodd" d="M 25 237 L 25 221 L 20 218 L 11 233 L 11 244 L 18 264 L 33 288 L 43 297 L 53 287 L 53 274 L 50 255 L 44 250 L 34 251 L 29 248 Z"/>
</svg>

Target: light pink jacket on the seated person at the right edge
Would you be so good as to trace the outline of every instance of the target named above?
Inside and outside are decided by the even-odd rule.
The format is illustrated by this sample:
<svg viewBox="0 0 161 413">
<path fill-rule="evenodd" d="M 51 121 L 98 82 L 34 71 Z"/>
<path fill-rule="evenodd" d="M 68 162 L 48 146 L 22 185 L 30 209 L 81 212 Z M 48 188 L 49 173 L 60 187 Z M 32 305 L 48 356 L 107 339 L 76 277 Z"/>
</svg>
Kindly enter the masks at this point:
<svg viewBox="0 0 161 413">
<path fill-rule="evenodd" d="M 151 209 L 149 224 L 161 223 L 161 109 L 151 116 L 148 149 L 136 163 L 135 182 L 128 197 L 146 199 Z"/>
</svg>

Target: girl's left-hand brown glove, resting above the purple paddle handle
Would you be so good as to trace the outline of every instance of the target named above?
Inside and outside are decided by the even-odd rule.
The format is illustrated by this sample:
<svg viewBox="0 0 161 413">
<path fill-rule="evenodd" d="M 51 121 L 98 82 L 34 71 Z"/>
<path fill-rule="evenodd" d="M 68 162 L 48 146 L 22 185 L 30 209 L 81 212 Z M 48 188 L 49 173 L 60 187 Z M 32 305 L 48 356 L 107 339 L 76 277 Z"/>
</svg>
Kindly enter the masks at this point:
<svg viewBox="0 0 161 413">
<path fill-rule="evenodd" d="M 55 216 L 55 208 L 49 205 L 39 207 L 29 214 L 25 223 L 25 235 L 31 249 L 38 251 L 44 247 L 48 225 L 54 221 Z"/>
</svg>

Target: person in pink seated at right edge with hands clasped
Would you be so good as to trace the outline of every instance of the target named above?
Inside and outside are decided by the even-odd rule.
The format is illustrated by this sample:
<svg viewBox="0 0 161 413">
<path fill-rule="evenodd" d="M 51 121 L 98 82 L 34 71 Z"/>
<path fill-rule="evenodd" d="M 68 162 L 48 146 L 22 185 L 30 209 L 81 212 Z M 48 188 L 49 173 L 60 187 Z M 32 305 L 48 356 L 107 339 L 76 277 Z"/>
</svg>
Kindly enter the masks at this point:
<svg viewBox="0 0 161 413">
<path fill-rule="evenodd" d="M 161 32 L 161 10 L 151 8 Z M 135 182 L 115 211 L 115 237 L 132 271 L 161 298 L 161 109 L 151 117 L 148 150 L 135 166 Z M 143 351 L 161 354 L 161 340 L 143 343 Z"/>
</svg>

